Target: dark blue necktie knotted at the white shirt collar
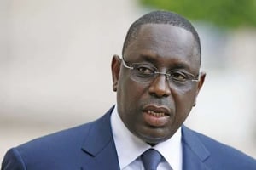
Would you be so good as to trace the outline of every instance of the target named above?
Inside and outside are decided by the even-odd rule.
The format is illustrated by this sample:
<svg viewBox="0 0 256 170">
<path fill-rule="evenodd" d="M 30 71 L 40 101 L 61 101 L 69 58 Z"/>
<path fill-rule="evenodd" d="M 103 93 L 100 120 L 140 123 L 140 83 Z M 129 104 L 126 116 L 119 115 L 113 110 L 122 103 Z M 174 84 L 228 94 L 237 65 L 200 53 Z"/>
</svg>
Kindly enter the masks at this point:
<svg viewBox="0 0 256 170">
<path fill-rule="evenodd" d="M 156 170 L 161 161 L 161 155 L 157 150 L 149 149 L 141 156 L 145 170 Z"/>
</svg>

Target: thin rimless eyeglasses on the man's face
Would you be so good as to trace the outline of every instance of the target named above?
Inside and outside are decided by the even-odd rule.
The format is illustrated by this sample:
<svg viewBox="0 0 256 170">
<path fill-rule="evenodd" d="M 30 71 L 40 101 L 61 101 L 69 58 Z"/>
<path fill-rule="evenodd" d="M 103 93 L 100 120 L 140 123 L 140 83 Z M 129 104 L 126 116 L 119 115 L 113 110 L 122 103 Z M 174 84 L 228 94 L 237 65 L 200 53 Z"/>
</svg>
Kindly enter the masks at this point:
<svg viewBox="0 0 256 170">
<path fill-rule="evenodd" d="M 164 75 L 169 84 L 189 88 L 191 82 L 200 81 L 200 73 L 195 76 L 187 71 L 172 70 L 160 72 L 154 65 L 145 63 L 132 63 L 128 65 L 125 59 L 122 59 L 122 62 L 125 68 L 130 69 L 131 79 L 136 82 L 150 83 L 153 82 L 158 75 Z"/>
</svg>

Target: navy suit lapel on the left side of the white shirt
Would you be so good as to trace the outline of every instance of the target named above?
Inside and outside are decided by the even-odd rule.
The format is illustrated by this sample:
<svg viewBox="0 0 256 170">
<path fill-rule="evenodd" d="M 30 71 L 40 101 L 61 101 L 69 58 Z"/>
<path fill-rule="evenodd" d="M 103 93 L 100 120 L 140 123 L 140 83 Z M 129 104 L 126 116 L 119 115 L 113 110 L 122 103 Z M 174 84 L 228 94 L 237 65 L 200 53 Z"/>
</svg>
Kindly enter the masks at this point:
<svg viewBox="0 0 256 170">
<path fill-rule="evenodd" d="M 119 161 L 110 125 L 112 111 L 113 108 L 96 122 L 91 122 L 90 132 L 82 146 L 82 150 L 87 155 L 84 153 L 84 165 L 81 169 L 119 170 Z"/>
</svg>

